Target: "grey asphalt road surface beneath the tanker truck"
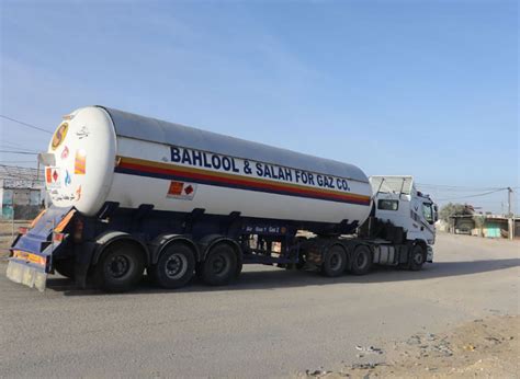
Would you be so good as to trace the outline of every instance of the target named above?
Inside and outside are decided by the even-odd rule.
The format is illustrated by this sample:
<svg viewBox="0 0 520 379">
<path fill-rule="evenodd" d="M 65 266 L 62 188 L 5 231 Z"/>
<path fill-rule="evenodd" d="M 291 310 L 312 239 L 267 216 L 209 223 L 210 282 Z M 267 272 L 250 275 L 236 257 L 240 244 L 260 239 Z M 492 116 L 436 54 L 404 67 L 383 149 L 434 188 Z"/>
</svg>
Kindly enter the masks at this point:
<svg viewBox="0 0 520 379">
<path fill-rule="evenodd" d="M 221 288 L 44 294 L 0 275 L 0 377 L 285 377 L 358 360 L 491 314 L 519 313 L 520 243 L 440 234 L 422 272 L 336 279 L 250 266 Z M 0 269 L 4 271 L 1 264 Z"/>
</svg>

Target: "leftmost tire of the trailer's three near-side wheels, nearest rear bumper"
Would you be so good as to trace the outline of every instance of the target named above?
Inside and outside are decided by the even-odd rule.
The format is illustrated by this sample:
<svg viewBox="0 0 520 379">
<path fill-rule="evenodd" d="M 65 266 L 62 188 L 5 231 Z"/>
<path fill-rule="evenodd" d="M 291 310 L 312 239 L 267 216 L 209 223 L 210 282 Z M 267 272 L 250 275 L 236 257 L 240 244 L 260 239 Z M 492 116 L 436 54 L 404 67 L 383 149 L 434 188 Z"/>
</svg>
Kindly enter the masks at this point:
<svg viewBox="0 0 520 379">
<path fill-rule="evenodd" d="M 108 292 L 124 292 L 143 278 L 145 260 L 133 243 L 109 245 L 94 267 L 94 283 Z"/>
</svg>

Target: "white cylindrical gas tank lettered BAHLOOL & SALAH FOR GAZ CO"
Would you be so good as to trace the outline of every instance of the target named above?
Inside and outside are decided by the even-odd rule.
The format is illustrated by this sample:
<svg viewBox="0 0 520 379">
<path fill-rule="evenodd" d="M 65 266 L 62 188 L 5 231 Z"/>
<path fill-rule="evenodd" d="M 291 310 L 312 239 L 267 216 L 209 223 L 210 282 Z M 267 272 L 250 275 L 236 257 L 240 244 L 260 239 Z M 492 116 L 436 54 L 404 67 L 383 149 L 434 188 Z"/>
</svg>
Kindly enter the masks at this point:
<svg viewBox="0 0 520 379">
<path fill-rule="evenodd" d="M 354 165 L 101 106 L 65 116 L 48 153 L 53 203 L 87 216 L 105 202 L 328 223 L 370 213 L 371 186 Z"/>
</svg>

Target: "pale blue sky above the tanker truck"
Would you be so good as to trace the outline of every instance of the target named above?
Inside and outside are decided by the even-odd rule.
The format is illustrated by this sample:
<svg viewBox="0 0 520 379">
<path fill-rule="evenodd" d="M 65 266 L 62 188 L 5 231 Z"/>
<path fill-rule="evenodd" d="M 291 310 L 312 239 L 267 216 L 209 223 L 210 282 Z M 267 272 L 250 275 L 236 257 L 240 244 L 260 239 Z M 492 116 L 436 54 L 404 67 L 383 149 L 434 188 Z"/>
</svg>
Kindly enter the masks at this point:
<svg viewBox="0 0 520 379">
<path fill-rule="evenodd" d="M 3 116 L 54 130 L 101 104 L 411 174 L 440 204 L 502 213 L 505 191 L 466 196 L 520 191 L 517 1 L 0 7 Z M 0 119 L 0 150 L 43 151 L 49 137 Z"/>
</svg>

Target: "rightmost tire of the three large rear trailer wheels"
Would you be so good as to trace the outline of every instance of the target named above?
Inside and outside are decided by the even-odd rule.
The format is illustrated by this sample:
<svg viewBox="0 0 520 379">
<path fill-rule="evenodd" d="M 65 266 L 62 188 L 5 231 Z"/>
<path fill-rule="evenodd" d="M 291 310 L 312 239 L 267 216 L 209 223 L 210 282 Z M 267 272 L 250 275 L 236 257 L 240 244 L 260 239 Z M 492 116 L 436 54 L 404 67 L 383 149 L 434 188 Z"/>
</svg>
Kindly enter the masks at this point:
<svg viewBox="0 0 520 379">
<path fill-rule="evenodd" d="M 202 265 L 202 280 L 210 286 L 224 286 L 237 277 L 238 257 L 235 249 L 218 243 L 206 255 Z"/>
</svg>

